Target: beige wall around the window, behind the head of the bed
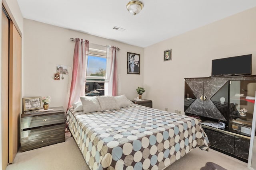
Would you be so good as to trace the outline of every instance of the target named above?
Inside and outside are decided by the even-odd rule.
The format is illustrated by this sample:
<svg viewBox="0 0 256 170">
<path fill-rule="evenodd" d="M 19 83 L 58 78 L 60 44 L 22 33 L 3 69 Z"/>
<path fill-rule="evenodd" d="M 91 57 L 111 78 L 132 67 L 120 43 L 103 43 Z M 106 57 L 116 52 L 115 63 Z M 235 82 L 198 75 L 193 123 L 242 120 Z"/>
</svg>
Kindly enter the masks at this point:
<svg viewBox="0 0 256 170">
<path fill-rule="evenodd" d="M 54 80 L 56 64 L 72 67 L 74 45 L 70 38 L 87 39 L 90 43 L 113 45 L 119 47 L 118 74 L 120 77 L 120 94 L 128 99 L 137 96 L 136 88 L 143 85 L 143 65 L 141 74 L 127 74 L 127 52 L 140 54 L 143 63 L 143 48 L 127 45 L 117 41 L 96 37 L 33 20 L 24 19 L 24 93 L 23 97 L 51 96 L 50 107 L 68 104 L 71 74 L 64 75 L 64 80 Z"/>
</svg>

